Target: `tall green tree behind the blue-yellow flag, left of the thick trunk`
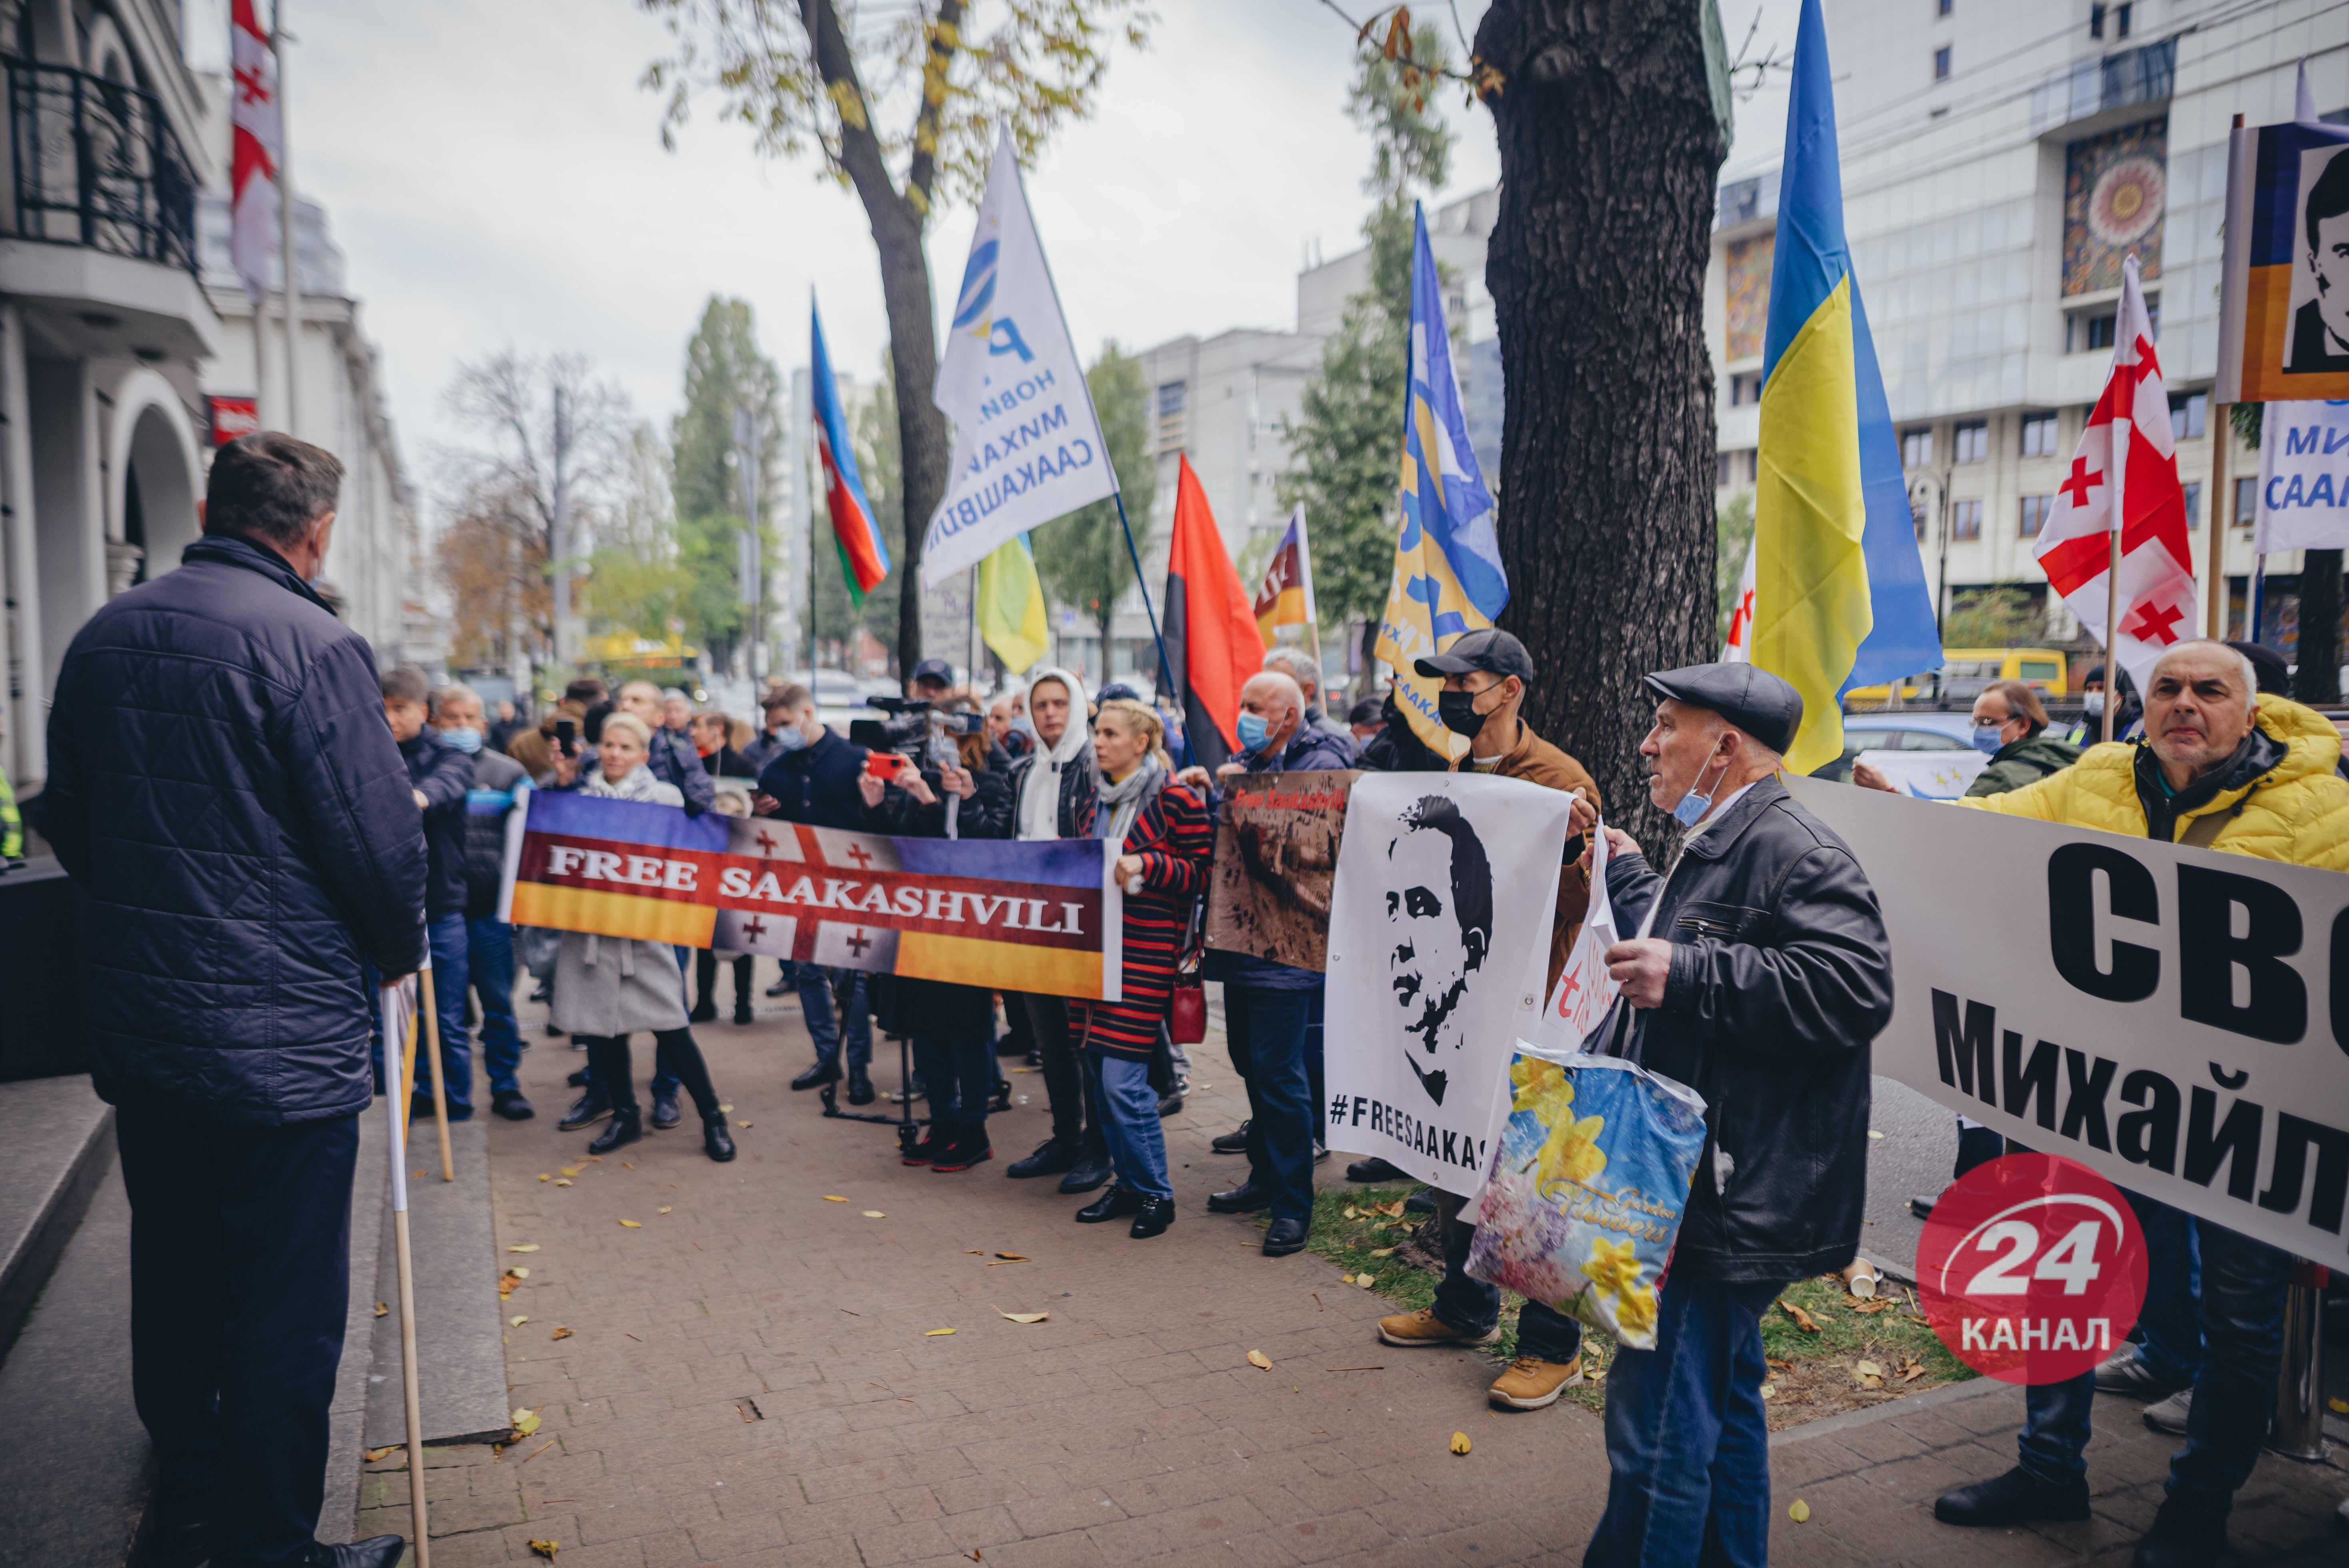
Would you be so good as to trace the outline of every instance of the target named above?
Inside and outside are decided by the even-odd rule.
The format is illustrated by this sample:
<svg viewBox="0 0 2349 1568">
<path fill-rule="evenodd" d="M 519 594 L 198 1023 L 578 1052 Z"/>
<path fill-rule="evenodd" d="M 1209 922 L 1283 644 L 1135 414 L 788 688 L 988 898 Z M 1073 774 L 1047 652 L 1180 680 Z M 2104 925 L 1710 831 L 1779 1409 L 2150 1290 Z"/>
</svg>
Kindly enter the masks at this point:
<svg viewBox="0 0 2349 1568">
<path fill-rule="evenodd" d="M 1445 61 L 1435 28 L 1412 40 L 1419 61 Z M 1369 56 L 1360 61 L 1348 115 L 1369 131 L 1362 188 L 1379 197 L 1362 225 L 1369 286 L 1346 300 L 1306 383 L 1301 418 L 1287 427 L 1292 467 L 1280 477 L 1283 507 L 1304 502 L 1313 538 L 1313 599 L 1322 620 L 1379 615 L 1395 568 L 1395 465 L 1402 439 L 1402 378 L 1412 336 L 1412 202 L 1445 183 L 1452 129 L 1426 113 L 1423 77 Z"/>
</svg>

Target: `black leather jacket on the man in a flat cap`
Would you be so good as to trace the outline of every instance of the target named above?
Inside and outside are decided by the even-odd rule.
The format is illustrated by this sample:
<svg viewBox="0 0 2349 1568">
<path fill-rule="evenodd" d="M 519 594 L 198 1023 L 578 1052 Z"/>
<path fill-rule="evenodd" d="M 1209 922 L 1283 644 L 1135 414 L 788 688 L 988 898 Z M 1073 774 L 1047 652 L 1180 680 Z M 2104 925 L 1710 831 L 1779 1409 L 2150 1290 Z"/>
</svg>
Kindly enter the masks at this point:
<svg viewBox="0 0 2349 1568">
<path fill-rule="evenodd" d="M 1867 1049 L 1893 1016 L 1860 864 L 1769 777 L 1689 843 L 1670 885 L 1621 854 L 1607 892 L 1626 934 L 1661 894 L 1649 934 L 1672 944 L 1663 1007 L 1633 1012 L 1616 1049 L 1705 1096 L 1672 1272 L 1792 1282 L 1844 1268 L 1867 1197 Z"/>
</svg>

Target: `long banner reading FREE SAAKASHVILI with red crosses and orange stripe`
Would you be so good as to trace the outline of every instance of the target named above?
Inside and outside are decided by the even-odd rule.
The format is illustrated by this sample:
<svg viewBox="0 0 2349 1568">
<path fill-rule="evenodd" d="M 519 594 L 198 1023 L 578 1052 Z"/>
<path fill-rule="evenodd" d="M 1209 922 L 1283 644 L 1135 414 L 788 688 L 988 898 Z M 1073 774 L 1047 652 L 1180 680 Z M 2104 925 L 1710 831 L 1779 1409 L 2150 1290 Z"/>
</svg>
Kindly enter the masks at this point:
<svg viewBox="0 0 2349 1568">
<path fill-rule="evenodd" d="M 507 857 L 500 915 L 1116 1002 L 1113 864 L 1097 838 L 893 838 L 543 789 Z"/>
</svg>

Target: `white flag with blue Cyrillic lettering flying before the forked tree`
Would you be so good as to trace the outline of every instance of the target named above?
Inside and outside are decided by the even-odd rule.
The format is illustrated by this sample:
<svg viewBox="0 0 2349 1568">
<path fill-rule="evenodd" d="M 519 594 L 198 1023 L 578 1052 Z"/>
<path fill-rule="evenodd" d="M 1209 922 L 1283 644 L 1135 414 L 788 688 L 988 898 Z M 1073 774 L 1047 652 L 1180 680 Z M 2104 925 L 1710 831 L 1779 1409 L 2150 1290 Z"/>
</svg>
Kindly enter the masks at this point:
<svg viewBox="0 0 2349 1568">
<path fill-rule="evenodd" d="M 923 587 L 1118 488 L 1008 134 L 987 171 L 930 401 L 954 425 L 954 462 L 921 540 Z"/>
</svg>

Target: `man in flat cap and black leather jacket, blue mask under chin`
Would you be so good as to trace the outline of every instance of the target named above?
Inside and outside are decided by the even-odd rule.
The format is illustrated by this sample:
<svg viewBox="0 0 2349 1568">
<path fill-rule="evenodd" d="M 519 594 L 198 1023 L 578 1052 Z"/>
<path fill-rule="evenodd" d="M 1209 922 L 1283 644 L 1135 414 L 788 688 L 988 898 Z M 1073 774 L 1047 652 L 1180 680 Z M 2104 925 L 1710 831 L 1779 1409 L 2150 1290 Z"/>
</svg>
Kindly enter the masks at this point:
<svg viewBox="0 0 2349 1568">
<path fill-rule="evenodd" d="M 1769 1561 L 1762 1312 L 1858 1251 L 1867 1047 L 1891 951 L 1860 864 L 1773 777 L 1802 697 L 1752 664 L 1647 676 L 1649 800 L 1687 829 L 1656 876 L 1607 829 L 1607 1049 L 1705 1099 L 1705 1148 L 1656 1310 L 1656 1347 L 1607 1373 L 1607 1514 L 1586 1568 Z M 1595 815 L 1576 803 L 1574 826 Z M 1588 866 L 1588 857 L 1583 859 Z"/>
</svg>

